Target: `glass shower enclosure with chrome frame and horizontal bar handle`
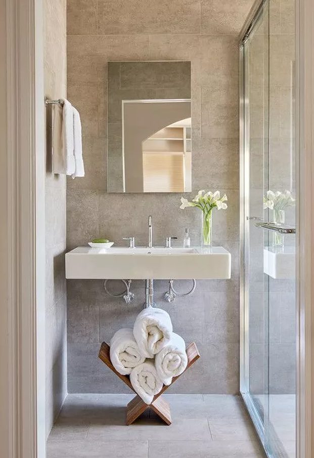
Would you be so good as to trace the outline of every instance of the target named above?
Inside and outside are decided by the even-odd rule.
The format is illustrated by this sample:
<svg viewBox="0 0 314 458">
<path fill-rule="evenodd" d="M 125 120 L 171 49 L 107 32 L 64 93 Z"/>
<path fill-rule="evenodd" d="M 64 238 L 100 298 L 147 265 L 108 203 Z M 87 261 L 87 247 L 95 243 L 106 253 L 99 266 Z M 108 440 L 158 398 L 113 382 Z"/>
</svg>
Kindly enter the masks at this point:
<svg viewBox="0 0 314 458">
<path fill-rule="evenodd" d="M 274 458 L 296 450 L 294 8 L 255 4 L 240 43 L 241 395 Z"/>
</svg>

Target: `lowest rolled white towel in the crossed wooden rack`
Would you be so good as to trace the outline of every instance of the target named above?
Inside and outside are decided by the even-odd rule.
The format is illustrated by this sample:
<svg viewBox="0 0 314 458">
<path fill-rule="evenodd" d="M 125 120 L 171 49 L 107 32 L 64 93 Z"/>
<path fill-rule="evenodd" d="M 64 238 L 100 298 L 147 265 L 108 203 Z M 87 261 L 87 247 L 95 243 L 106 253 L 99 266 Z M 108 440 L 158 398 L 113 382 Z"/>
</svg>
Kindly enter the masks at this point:
<svg viewBox="0 0 314 458">
<path fill-rule="evenodd" d="M 162 387 L 153 361 L 146 360 L 143 364 L 134 367 L 130 373 L 130 381 L 134 390 L 143 399 L 145 404 L 151 404 L 154 396 Z"/>
</svg>

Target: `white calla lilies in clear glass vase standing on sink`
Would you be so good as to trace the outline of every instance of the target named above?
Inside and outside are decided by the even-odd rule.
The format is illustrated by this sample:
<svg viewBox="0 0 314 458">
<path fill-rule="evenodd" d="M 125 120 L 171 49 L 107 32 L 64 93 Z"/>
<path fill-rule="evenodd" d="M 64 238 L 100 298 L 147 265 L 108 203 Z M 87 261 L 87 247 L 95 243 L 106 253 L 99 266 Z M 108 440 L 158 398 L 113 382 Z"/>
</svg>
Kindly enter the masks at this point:
<svg viewBox="0 0 314 458">
<path fill-rule="evenodd" d="M 203 243 L 204 245 L 211 245 L 211 217 L 213 209 L 217 210 L 226 210 L 228 200 L 227 195 L 224 194 L 220 197 L 220 192 L 211 191 L 205 192 L 204 190 L 198 191 L 197 195 L 190 202 L 188 199 L 181 197 L 181 206 L 182 210 L 187 207 L 197 207 L 202 211 L 202 224 L 203 224 Z"/>
</svg>

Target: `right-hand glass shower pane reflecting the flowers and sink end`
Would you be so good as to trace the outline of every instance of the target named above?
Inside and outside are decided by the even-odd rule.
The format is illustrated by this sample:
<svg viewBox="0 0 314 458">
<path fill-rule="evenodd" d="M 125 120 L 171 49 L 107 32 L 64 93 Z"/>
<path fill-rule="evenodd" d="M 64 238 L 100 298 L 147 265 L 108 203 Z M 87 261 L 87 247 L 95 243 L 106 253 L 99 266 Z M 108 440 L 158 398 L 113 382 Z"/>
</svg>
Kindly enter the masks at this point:
<svg viewBox="0 0 314 458">
<path fill-rule="evenodd" d="M 278 13 L 280 12 L 279 16 Z M 269 3 L 268 221 L 295 228 L 294 0 Z M 266 231 L 264 231 L 266 232 Z M 268 434 L 274 457 L 295 458 L 295 235 L 268 232 Z M 275 263 L 275 264 L 274 264 Z"/>
</svg>

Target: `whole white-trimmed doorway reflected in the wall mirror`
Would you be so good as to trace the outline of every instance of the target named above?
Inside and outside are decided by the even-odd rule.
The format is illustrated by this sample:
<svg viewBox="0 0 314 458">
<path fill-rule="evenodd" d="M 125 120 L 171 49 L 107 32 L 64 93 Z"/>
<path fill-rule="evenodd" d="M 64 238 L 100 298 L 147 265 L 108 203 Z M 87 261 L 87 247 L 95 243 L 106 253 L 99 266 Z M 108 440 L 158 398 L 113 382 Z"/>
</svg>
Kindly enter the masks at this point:
<svg viewBox="0 0 314 458">
<path fill-rule="evenodd" d="M 191 191 L 191 100 L 123 100 L 122 120 L 124 192 Z"/>
</svg>

